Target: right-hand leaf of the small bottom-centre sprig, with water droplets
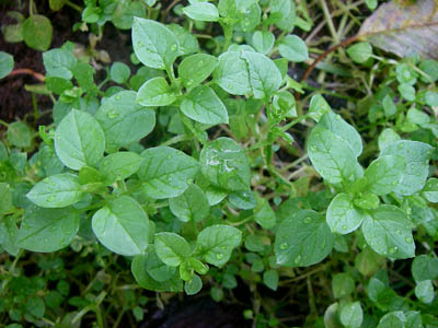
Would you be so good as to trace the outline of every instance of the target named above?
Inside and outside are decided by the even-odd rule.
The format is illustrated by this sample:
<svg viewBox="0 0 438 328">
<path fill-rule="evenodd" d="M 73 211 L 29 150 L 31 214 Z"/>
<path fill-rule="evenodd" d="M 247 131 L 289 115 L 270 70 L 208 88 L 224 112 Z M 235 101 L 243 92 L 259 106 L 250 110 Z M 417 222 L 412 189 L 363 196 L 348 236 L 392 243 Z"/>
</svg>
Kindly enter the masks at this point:
<svg viewBox="0 0 438 328">
<path fill-rule="evenodd" d="M 204 229 L 197 238 L 196 253 L 216 267 L 222 267 L 242 242 L 242 232 L 231 225 L 216 224 Z"/>
</svg>

